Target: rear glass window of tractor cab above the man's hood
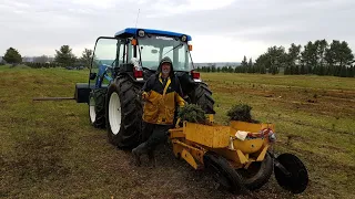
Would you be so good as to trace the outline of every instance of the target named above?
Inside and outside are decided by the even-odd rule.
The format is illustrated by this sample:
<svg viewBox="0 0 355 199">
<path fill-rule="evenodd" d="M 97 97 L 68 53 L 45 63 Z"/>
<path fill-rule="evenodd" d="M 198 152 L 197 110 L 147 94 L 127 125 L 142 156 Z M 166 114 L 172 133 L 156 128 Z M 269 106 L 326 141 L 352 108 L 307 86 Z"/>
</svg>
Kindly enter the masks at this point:
<svg viewBox="0 0 355 199">
<path fill-rule="evenodd" d="M 138 44 L 143 67 L 156 71 L 160 60 L 169 56 L 174 71 L 191 71 L 187 43 L 179 38 L 150 34 L 139 38 Z"/>
</svg>

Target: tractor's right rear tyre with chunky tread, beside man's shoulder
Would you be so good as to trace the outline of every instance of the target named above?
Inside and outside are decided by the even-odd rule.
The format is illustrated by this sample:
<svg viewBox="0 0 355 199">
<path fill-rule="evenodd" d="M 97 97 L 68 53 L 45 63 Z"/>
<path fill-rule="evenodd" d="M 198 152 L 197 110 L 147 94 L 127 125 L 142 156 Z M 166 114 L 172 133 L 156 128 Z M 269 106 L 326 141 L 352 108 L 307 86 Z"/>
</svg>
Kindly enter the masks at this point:
<svg viewBox="0 0 355 199">
<path fill-rule="evenodd" d="M 206 114 L 215 114 L 213 109 L 214 100 L 212 98 L 212 92 L 207 87 L 207 84 L 203 82 L 196 83 L 194 90 L 189 95 L 192 104 L 197 104 Z"/>
</svg>

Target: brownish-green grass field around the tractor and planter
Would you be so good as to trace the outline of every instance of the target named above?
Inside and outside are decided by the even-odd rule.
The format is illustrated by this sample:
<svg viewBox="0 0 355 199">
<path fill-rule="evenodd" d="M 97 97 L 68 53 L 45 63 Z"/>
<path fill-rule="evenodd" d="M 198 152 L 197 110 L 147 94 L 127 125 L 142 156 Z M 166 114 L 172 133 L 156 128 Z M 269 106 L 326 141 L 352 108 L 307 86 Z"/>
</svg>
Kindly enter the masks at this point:
<svg viewBox="0 0 355 199">
<path fill-rule="evenodd" d="M 88 106 L 73 96 L 88 71 L 0 66 L 1 198 L 236 198 L 216 191 L 207 174 L 193 170 L 162 146 L 158 167 L 132 166 L 131 156 L 89 125 Z M 254 118 L 276 124 L 280 153 L 297 155 L 310 187 L 297 196 L 274 177 L 241 198 L 355 198 L 355 78 L 202 74 L 215 98 L 216 122 L 248 103 Z"/>
</svg>

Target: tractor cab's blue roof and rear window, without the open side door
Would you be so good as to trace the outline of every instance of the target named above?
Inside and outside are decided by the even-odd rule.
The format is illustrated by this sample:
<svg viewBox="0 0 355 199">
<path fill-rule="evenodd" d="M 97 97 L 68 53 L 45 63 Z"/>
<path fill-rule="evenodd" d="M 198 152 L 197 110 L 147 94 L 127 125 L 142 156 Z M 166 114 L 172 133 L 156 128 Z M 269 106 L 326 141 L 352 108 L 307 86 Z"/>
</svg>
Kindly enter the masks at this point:
<svg viewBox="0 0 355 199">
<path fill-rule="evenodd" d="M 189 45 L 191 36 L 176 32 L 159 31 L 151 29 L 125 29 L 115 34 L 115 38 L 126 39 L 131 42 L 130 57 L 136 57 L 140 64 L 156 71 L 162 57 L 169 56 L 176 71 L 191 71 Z"/>
</svg>

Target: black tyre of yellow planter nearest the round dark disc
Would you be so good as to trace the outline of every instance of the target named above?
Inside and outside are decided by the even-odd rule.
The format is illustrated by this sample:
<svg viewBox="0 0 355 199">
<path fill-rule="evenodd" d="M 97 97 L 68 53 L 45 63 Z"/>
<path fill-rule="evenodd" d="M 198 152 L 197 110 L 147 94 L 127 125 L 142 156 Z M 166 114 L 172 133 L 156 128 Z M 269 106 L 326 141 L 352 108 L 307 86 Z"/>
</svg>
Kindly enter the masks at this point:
<svg viewBox="0 0 355 199">
<path fill-rule="evenodd" d="M 265 154 L 263 161 L 252 163 L 247 169 L 240 168 L 236 171 L 243 178 L 244 186 L 250 190 L 256 190 L 265 185 L 273 174 L 273 158 Z"/>
</svg>

